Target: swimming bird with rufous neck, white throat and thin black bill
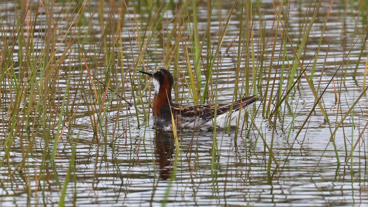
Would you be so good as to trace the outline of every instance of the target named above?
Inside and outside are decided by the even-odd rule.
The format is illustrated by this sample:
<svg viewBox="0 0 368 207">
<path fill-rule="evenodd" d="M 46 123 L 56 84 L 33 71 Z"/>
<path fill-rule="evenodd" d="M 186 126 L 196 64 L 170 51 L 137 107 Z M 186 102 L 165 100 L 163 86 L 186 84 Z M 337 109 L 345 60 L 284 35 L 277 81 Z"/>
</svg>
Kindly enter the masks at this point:
<svg viewBox="0 0 368 207">
<path fill-rule="evenodd" d="M 171 90 L 174 84 L 174 77 L 168 70 L 159 69 L 156 73 L 139 72 L 152 77 L 155 94 L 151 102 L 151 109 L 156 129 L 161 131 L 173 131 L 171 115 L 174 117 L 174 126 L 179 130 L 224 128 L 229 121 L 230 125 L 234 126 L 238 117 L 243 116 L 256 101 L 261 99 L 261 97 L 250 96 L 233 103 L 181 105 L 172 101 Z M 216 107 L 217 110 L 215 110 Z M 216 126 L 214 127 L 215 111 Z M 231 117 L 229 117 L 230 114 Z"/>
</svg>

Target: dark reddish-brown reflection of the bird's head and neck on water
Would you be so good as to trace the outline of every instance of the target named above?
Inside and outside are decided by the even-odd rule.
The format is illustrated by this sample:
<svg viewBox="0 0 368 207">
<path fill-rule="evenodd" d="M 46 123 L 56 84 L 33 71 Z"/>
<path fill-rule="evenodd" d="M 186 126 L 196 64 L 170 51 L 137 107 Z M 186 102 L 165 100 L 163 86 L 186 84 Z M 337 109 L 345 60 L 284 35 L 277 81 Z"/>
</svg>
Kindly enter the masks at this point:
<svg viewBox="0 0 368 207">
<path fill-rule="evenodd" d="M 158 131 L 155 135 L 156 168 L 160 179 L 167 180 L 171 176 L 174 154 L 174 136 L 172 132 Z"/>
</svg>

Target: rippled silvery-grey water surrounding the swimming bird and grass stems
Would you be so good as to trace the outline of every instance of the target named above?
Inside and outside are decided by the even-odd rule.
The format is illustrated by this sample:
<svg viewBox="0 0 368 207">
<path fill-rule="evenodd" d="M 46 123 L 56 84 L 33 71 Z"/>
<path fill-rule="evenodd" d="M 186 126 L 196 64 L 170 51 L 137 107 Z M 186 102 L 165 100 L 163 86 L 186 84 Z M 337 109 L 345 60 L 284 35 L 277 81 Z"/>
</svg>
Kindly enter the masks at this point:
<svg viewBox="0 0 368 207">
<path fill-rule="evenodd" d="M 351 4 L 346 8 L 346 5 L 340 1 L 332 4 L 317 59 L 313 83 L 316 88 L 319 87 L 318 95 L 321 95 L 327 87 L 322 96 L 322 103 L 330 122 L 325 122 L 319 106 L 316 106 L 308 118 L 309 112 L 314 107 L 314 96 L 302 76 L 296 90 L 291 92 L 290 108 L 282 104 L 280 117 L 272 120 L 262 117 L 264 105 L 263 102 L 257 102 L 256 107 L 251 110 L 250 118 L 244 124 L 243 131 L 240 131 L 237 136 L 235 129 L 231 129 L 229 133 L 223 130 L 215 132 L 217 151 L 213 151 L 213 131 L 179 132 L 179 149 L 176 149 L 172 133 L 156 134 L 152 129 L 152 119 L 145 119 L 143 111 L 148 109 L 152 94 L 148 91 L 140 94 L 139 91 L 143 90 L 147 82 L 145 77 L 134 74 L 135 69 L 131 65 L 139 58 L 135 39 L 138 28 L 135 27 L 135 22 L 137 21 L 140 32 L 144 31 L 146 25 L 150 28 L 151 24 L 147 23 L 150 10 L 142 6 L 141 11 L 138 12 L 137 7 L 133 10 L 133 3 L 129 3 L 128 12 L 124 14 L 124 21 L 121 22 L 121 31 L 118 32 L 112 28 L 117 28 L 122 6 L 120 2 L 115 3 L 116 8 L 112 6 L 113 3 L 103 4 L 100 8 L 104 10 L 104 14 L 100 17 L 97 12 L 99 4 L 89 2 L 83 15 L 85 20 L 81 20 L 89 22 L 88 27 L 78 27 L 78 24 L 70 23 L 69 18 L 77 16 L 73 12 L 74 8 L 77 8 L 75 3 L 71 4 L 69 10 L 67 10 L 69 3 L 56 2 L 53 10 L 48 8 L 49 12 L 53 11 L 56 22 L 61 22 L 56 26 L 53 25 L 59 28 L 60 32 L 52 36 L 56 40 L 51 50 L 55 52 L 53 65 L 60 66 L 50 67 L 50 71 L 54 69 L 52 77 L 58 77 L 50 84 L 53 90 L 49 93 L 54 99 L 45 106 L 42 101 L 38 103 L 38 96 L 34 95 L 33 98 L 37 102 L 34 107 L 48 109 L 49 117 L 45 119 L 47 125 L 43 128 L 43 115 L 31 114 L 29 127 L 22 119 L 23 121 L 17 125 L 17 133 L 13 136 L 14 141 L 11 142 L 9 156 L 5 152 L 8 144 L 6 139 L 10 133 L 8 127 L 12 123 L 8 112 L 14 103 L 15 90 L 14 87 L 9 89 L 12 83 L 6 72 L 1 82 L 3 115 L 0 121 L 2 131 L 0 145 L 4 148 L 0 152 L 4 161 L 0 167 L 1 206 L 56 206 L 67 179 L 69 182 L 66 185 L 65 206 L 161 206 L 164 200 L 167 206 L 368 206 L 367 147 L 365 145 L 367 138 L 365 133 L 362 133 L 367 123 L 367 98 L 360 99 L 354 110 L 344 120 L 343 127 L 337 130 L 336 151 L 333 143 L 330 142 L 331 130 L 335 129 L 342 116 L 348 112 L 364 89 L 362 83 L 365 73 L 364 63 L 367 58 L 366 49 L 363 46 L 364 38 L 359 35 L 366 25 L 360 23 L 362 17 L 356 10 L 358 5 Z M 31 5 L 33 8 L 29 13 L 31 19 L 35 18 L 35 8 L 39 11 L 37 17 L 39 21 L 32 39 L 35 55 L 29 57 L 29 61 L 36 61 L 43 54 L 42 41 L 46 38 L 45 30 L 48 21 L 42 5 L 37 6 L 35 2 Z M 216 1 L 211 16 L 213 38 L 219 27 L 222 27 L 224 18 L 232 6 L 232 2 Z M 329 2 L 322 3 L 303 53 L 302 63 L 307 67 L 308 76 L 312 73 L 313 57 L 318 48 L 329 6 Z M 22 10 L 20 5 L 14 5 L 8 1 L 2 1 L 0 8 L 3 27 L 6 30 L 0 34 L 1 45 L 8 40 L 10 44 L 7 47 L 11 48 L 13 44 L 11 42 L 16 42 L 15 37 L 18 34 L 13 30 L 14 11 L 17 10 L 18 14 L 21 14 Z M 255 13 L 252 17 L 256 51 L 255 66 L 259 71 L 261 67 L 259 59 L 263 56 L 267 60 L 262 63 L 263 69 L 258 76 L 261 78 L 258 90 L 265 95 L 267 103 L 271 88 L 276 87 L 275 90 L 277 90 L 279 85 L 282 57 L 278 57 L 279 51 L 275 52 L 276 56 L 271 63 L 276 27 L 274 25 L 276 15 L 272 2 L 264 1 L 259 8 L 261 13 Z M 300 43 L 300 31 L 313 15 L 312 11 L 309 12 L 310 8 L 313 11 L 315 6 L 290 2 L 290 22 L 287 31 L 296 49 Z M 287 5 L 283 9 L 287 9 Z M 206 11 L 206 4 L 199 4 L 200 39 L 205 35 Z M 137 13 L 136 16 L 134 12 Z M 307 21 L 304 18 L 306 13 Z M 217 91 L 218 102 L 227 102 L 233 98 L 235 70 L 238 64 L 236 57 L 239 15 L 240 9 L 236 8 L 220 48 L 219 60 L 213 68 L 214 82 L 210 83 L 209 90 Z M 167 12 L 163 16 L 163 25 L 172 17 L 173 13 Z M 99 18 L 105 21 L 103 24 L 105 28 L 101 27 Z M 171 22 L 168 28 L 172 28 L 173 24 Z M 71 29 L 69 29 L 70 26 Z M 260 28 L 264 29 L 266 39 L 270 37 L 264 44 L 261 42 L 263 39 L 259 37 Z M 163 34 L 167 35 L 169 29 L 165 29 Z M 190 34 L 189 28 L 183 27 L 182 38 Z M 96 103 L 93 87 L 101 97 L 105 96 L 106 88 L 97 81 L 93 82 L 95 85 L 91 84 L 84 60 L 80 55 L 79 45 L 77 42 L 70 42 L 78 38 L 91 73 L 102 82 L 108 79 L 105 73 L 106 59 L 113 54 L 109 59 L 113 64 L 107 72 L 111 80 L 110 87 L 113 90 L 118 88 L 117 94 L 121 94 L 130 102 L 134 102 L 134 98 L 131 97 L 141 96 L 142 101 L 137 103 L 137 108 L 128 108 L 124 101 L 112 96 L 109 91 L 106 93 L 107 98 L 103 107 Z M 216 38 L 218 39 L 219 36 Z M 113 40 L 116 39 L 117 41 L 114 42 Z M 348 55 L 355 41 L 357 43 Z M 105 52 L 103 42 L 106 42 L 106 47 L 111 49 L 112 53 Z M 189 81 L 184 49 L 190 48 L 190 45 L 186 44 L 190 43 L 180 42 L 180 57 L 176 61 L 181 71 L 174 85 L 173 98 L 176 102 L 193 104 L 190 90 L 184 81 Z M 18 54 L 20 47 L 15 45 L 14 54 Z M 164 45 L 165 43 L 157 38 L 147 48 L 148 52 L 144 59 L 145 70 L 152 72 L 156 67 L 164 66 L 160 65 L 162 60 L 167 59 L 168 52 L 162 49 Z M 276 51 L 280 50 L 282 45 L 281 38 L 278 36 L 275 42 Z M 217 43 L 214 49 L 216 46 Z M 245 49 L 245 45 L 243 47 Z M 327 57 L 325 57 L 326 51 L 328 51 Z M 206 52 L 204 47 L 202 50 L 204 56 Z M 289 42 L 287 54 L 291 64 L 295 55 Z M 346 56 L 348 56 L 347 59 L 344 59 Z M 1 57 L 7 56 L 1 53 Z M 13 56 L 12 60 L 15 75 L 20 77 L 22 61 L 19 60 L 18 55 Z M 252 66 L 252 62 L 246 63 L 244 60 L 245 55 L 243 62 L 240 63 L 242 72 L 239 86 L 243 87 L 242 92 L 245 91 L 244 67 L 246 64 Z M 344 64 L 340 67 L 342 61 Z M 39 61 L 36 65 L 39 66 L 41 63 L 42 61 Z M 284 81 L 287 79 L 289 66 L 286 65 L 285 68 Z M 339 70 L 333 83 L 329 84 L 337 69 Z M 2 71 L 4 73 L 4 68 Z M 41 78 L 40 71 L 41 69 L 35 75 L 37 80 Z M 269 75 L 270 81 L 267 81 Z M 24 76 L 22 80 L 27 81 L 30 76 Z M 298 73 L 296 78 L 297 76 Z M 202 80 L 206 78 L 204 73 L 201 77 Z M 250 77 L 256 76 L 250 74 Z M 108 81 L 105 84 L 108 84 Z M 202 86 L 204 84 L 202 83 Z M 69 91 L 64 95 L 68 85 Z M 341 105 L 335 103 L 333 85 L 336 87 Z M 265 94 L 267 86 L 269 90 Z M 152 87 L 150 86 L 151 91 Z M 282 91 L 286 90 L 283 88 Z M 29 92 L 26 93 L 31 96 Z M 212 95 L 209 101 L 213 100 Z M 64 98 L 67 100 L 65 105 L 67 111 L 62 117 L 63 124 L 59 130 L 61 135 L 57 143 L 56 158 L 52 163 L 50 155 L 57 135 L 57 123 L 60 119 L 58 113 Z M 110 100 L 111 104 L 107 105 Z M 22 101 L 18 107 L 21 109 L 27 102 Z M 275 104 L 273 102 L 272 110 Z M 20 115 L 20 117 L 23 116 L 25 115 Z M 68 121 L 70 117 L 72 121 Z M 98 122 L 96 121 L 98 117 L 103 118 L 99 121 L 96 133 L 93 127 Z M 254 118 L 257 128 L 253 126 L 251 118 Z M 306 119 L 308 122 L 304 125 Z M 357 142 L 360 133 L 362 136 L 353 152 L 353 158 L 345 165 L 344 159 L 347 154 L 350 154 L 351 145 Z M 362 142 L 362 140 L 365 141 Z M 265 143 L 273 146 L 273 155 L 279 166 L 274 160 L 270 161 L 273 158 L 270 158 L 269 148 L 265 147 Z M 75 151 L 74 159 L 72 159 L 73 151 Z M 342 162 L 341 165 L 337 164 L 338 159 Z M 75 162 L 75 168 L 70 168 L 72 161 Z M 270 162 L 271 171 L 268 171 Z"/>
</svg>

